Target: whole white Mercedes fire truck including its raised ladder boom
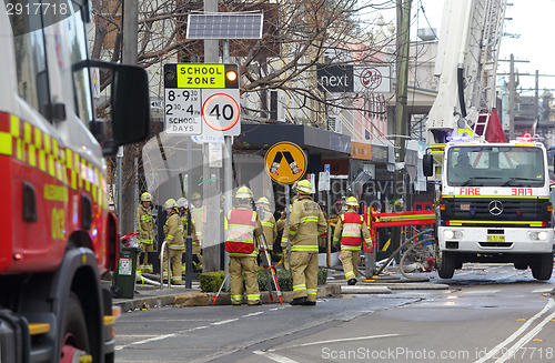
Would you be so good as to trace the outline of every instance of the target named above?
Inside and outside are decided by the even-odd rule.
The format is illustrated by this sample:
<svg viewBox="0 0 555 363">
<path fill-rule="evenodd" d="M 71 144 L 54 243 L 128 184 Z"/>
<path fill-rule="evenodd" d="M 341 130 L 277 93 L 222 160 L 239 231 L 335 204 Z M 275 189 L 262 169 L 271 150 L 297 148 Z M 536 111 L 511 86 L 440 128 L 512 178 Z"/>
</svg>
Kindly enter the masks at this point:
<svg viewBox="0 0 555 363">
<path fill-rule="evenodd" d="M 506 0 L 446 0 L 426 124 L 424 174 L 436 192 L 436 266 L 511 262 L 535 279 L 553 271 L 553 206 L 546 150 L 529 135 L 506 142 L 496 69 Z"/>
</svg>

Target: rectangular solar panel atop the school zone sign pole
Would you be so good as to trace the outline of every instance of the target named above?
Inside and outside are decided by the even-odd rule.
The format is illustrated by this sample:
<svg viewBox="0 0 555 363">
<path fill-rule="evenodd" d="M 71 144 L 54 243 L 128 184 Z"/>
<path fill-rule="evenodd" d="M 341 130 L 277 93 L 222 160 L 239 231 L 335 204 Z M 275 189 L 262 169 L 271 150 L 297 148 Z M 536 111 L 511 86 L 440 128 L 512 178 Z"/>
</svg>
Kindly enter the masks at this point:
<svg viewBox="0 0 555 363">
<path fill-rule="evenodd" d="M 261 39 L 263 13 L 189 14 L 186 39 Z"/>
</svg>

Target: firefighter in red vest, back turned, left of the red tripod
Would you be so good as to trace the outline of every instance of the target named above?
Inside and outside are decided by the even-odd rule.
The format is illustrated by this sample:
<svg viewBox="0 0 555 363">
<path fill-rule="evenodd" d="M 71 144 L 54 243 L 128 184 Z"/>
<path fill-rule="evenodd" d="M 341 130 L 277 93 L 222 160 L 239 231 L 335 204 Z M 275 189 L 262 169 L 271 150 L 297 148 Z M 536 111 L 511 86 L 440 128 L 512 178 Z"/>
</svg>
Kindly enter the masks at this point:
<svg viewBox="0 0 555 363">
<path fill-rule="evenodd" d="M 231 303 L 234 306 L 240 306 L 243 303 L 244 272 L 246 303 L 251 306 L 261 305 L 256 238 L 262 234 L 262 224 L 258 213 L 251 208 L 252 192 L 249 188 L 239 188 L 235 193 L 235 201 L 236 208 L 229 211 L 225 216 L 228 230 L 225 251 L 230 254 Z"/>
</svg>

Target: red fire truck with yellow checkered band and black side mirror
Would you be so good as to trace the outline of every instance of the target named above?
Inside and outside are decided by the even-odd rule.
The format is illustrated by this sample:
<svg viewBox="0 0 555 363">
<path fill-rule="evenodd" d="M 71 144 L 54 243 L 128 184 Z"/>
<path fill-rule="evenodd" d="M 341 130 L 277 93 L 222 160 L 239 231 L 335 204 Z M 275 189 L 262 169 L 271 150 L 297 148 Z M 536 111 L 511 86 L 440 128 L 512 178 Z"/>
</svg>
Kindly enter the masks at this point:
<svg viewBox="0 0 555 363">
<path fill-rule="evenodd" d="M 100 275 L 113 269 L 118 228 L 104 158 L 147 137 L 148 78 L 88 58 L 90 14 L 87 0 L 0 6 L 2 363 L 113 362 Z M 108 82 L 108 99 L 95 99 Z"/>
</svg>

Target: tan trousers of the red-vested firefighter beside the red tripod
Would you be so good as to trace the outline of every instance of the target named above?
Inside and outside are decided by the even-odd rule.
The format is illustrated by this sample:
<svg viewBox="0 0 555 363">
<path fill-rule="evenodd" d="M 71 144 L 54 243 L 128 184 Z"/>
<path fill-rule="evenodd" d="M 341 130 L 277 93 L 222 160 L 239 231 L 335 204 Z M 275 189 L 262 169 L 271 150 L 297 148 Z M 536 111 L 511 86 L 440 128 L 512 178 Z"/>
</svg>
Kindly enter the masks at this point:
<svg viewBox="0 0 555 363">
<path fill-rule="evenodd" d="M 245 274 L 246 303 L 254 305 L 260 302 L 259 265 L 253 256 L 230 256 L 231 303 L 243 303 L 243 272 Z"/>
</svg>

